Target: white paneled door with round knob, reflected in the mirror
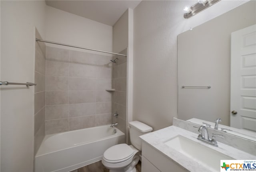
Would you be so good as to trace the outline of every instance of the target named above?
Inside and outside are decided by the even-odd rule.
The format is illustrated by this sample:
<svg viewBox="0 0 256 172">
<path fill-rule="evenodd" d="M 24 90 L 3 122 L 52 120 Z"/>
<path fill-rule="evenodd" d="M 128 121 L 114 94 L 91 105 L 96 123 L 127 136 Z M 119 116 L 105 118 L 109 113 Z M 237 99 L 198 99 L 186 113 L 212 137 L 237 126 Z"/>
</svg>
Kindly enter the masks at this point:
<svg viewBox="0 0 256 172">
<path fill-rule="evenodd" d="M 256 131 L 256 25 L 232 32 L 230 95 L 230 126 Z"/>
</svg>

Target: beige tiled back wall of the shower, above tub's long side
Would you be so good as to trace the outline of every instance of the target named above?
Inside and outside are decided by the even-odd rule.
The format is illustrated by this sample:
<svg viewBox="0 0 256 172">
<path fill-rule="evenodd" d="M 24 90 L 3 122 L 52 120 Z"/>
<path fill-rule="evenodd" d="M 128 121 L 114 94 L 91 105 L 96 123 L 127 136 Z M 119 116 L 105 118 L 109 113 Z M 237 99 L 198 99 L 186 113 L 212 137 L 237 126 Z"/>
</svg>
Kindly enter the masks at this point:
<svg viewBox="0 0 256 172">
<path fill-rule="evenodd" d="M 112 57 L 46 47 L 46 134 L 112 123 Z"/>
</svg>

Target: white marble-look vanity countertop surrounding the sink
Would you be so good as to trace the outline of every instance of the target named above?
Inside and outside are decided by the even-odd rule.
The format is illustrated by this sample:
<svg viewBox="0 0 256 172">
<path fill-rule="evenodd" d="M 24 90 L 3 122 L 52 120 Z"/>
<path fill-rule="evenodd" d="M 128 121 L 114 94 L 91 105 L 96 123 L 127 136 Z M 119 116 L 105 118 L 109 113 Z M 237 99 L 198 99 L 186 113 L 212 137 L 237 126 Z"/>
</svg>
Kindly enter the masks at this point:
<svg viewBox="0 0 256 172">
<path fill-rule="evenodd" d="M 238 150 L 236 148 L 233 148 L 231 146 L 218 142 L 218 138 L 217 138 L 218 147 L 214 147 L 212 145 L 206 144 L 197 139 L 198 134 L 195 134 L 193 132 L 184 130 L 176 126 L 166 127 L 161 130 L 157 130 L 155 132 L 140 136 L 140 138 L 142 138 L 142 140 L 150 144 L 156 150 L 160 151 L 162 154 L 171 158 L 172 160 L 174 160 L 175 162 L 177 162 L 178 164 L 180 164 L 181 166 L 183 166 L 184 168 L 186 168 L 191 172 L 209 171 L 209 168 L 207 168 L 206 166 L 202 166 L 202 164 L 199 164 L 193 159 L 188 158 L 184 154 L 164 144 L 165 141 L 170 140 L 171 138 L 174 138 L 178 135 L 189 138 L 190 140 L 197 142 L 198 144 L 202 144 L 204 146 L 212 148 L 213 150 L 221 152 L 222 154 L 226 154 L 227 156 L 230 156 L 236 160 L 248 160 L 248 159 L 255 160 L 256 159 L 256 156 L 254 155 L 248 154 L 246 152 L 243 152 L 241 150 Z"/>
</svg>

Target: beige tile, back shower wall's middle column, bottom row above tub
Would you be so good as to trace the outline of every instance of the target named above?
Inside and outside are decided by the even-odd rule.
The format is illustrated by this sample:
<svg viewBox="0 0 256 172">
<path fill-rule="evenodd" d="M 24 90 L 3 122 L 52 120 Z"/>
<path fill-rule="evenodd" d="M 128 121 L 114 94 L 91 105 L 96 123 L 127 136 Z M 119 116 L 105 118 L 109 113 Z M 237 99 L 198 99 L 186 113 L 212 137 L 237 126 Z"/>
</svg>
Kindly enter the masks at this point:
<svg viewBox="0 0 256 172">
<path fill-rule="evenodd" d="M 95 126 L 95 116 L 69 118 L 70 130 L 90 128 Z"/>
</svg>

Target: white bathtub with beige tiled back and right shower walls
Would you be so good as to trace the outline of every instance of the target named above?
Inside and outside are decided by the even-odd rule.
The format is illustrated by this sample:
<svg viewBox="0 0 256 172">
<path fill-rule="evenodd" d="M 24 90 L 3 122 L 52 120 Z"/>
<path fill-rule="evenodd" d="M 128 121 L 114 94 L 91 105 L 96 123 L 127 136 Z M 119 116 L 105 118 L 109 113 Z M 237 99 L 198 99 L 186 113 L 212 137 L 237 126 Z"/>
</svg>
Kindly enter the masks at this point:
<svg viewBox="0 0 256 172">
<path fill-rule="evenodd" d="M 93 50 L 42 39 L 36 39 L 36 41 L 41 42 L 40 44 L 47 42 Z M 126 95 L 127 56 L 124 54 L 127 50 L 122 51 L 123 54 L 94 50 L 114 54 L 115 56 L 112 57 L 60 48 L 46 48 L 49 48 L 46 49 L 48 52 L 46 52 L 44 75 L 46 135 L 42 137 L 41 144 L 39 143 L 35 150 L 34 168 L 36 172 L 69 172 L 102 160 L 108 148 L 125 143 L 126 96 L 123 95 Z M 62 71 L 69 71 L 69 73 Z M 125 89 L 118 86 L 120 80 L 122 82 L 125 80 L 124 84 L 121 83 Z M 65 88 L 65 84 L 68 87 Z M 112 85 L 117 88 L 109 88 Z M 114 92 L 115 90 L 117 93 Z M 120 100 L 119 96 L 125 99 Z M 67 100 L 65 100 L 66 97 L 68 97 Z M 89 101 L 84 97 L 91 97 L 92 100 Z M 60 101 L 57 103 L 52 101 L 58 99 Z M 119 129 L 110 127 L 113 122 L 111 112 L 116 111 L 121 112 L 121 118 L 116 118 L 114 114 L 116 121 L 113 126 L 118 123 Z M 60 130 L 63 128 L 64 130 Z"/>
</svg>

